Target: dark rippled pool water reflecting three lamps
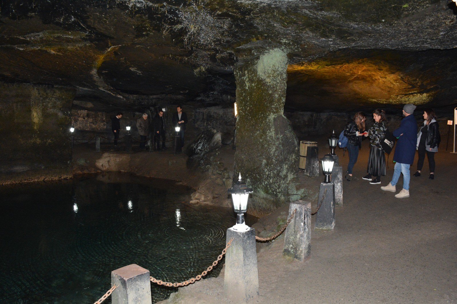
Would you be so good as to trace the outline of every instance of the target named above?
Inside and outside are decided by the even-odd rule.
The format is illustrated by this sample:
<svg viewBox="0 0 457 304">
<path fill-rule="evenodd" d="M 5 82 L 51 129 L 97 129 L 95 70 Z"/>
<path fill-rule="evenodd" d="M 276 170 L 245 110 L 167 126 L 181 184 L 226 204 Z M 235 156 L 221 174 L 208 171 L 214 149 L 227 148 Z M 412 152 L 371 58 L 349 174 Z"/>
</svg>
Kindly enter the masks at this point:
<svg viewBox="0 0 457 304">
<path fill-rule="evenodd" d="M 191 192 L 116 173 L 0 189 L 0 303 L 94 303 L 133 263 L 164 281 L 200 274 L 235 216 L 183 203 Z M 153 301 L 176 290 L 151 286 Z"/>
</svg>

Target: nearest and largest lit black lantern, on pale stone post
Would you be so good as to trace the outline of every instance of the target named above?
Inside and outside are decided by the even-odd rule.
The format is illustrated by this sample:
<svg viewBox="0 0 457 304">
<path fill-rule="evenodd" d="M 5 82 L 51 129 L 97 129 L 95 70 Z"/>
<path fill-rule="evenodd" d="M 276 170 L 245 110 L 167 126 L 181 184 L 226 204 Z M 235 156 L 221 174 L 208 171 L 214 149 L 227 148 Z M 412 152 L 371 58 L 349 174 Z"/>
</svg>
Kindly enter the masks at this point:
<svg viewBox="0 0 457 304">
<path fill-rule="evenodd" d="M 239 173 L 238 182 L 234 183 L 227 192 L 232 194 L 233 208 L 237 214 L 236 225 L 232 228 L 236 231 L 249 230 L 249 226 L 244 223 L 244 213 L 247 211 L 249 194 L 252 193 L 252 189 L 241 181 L 241 173 Z"/>
</svg>

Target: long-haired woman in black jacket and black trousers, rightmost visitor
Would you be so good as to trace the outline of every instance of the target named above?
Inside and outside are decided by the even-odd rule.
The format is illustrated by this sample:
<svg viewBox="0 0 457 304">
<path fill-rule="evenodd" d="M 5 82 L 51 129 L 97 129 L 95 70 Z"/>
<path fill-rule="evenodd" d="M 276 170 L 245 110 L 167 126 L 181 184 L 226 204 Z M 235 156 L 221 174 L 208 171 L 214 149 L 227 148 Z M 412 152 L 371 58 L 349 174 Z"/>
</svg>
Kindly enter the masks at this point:
<svg viewBox="0 0 457 304">
<path fill-rule="evenodd" d="M 440 130 L 436 121 L 435 111 L 432 109 L 424 110 L 424 124 L 419 128 L 417 133 L 417 152 L 419 160 L 417 161 L 417 172 L 414 176 L 420 176 L 420 170 L 424 166 L 425 154 L 429 160 L 430 179 L 435 178 L 435 153 L 438 152 L 438 145 L 441 142 Z"/>
</svg>

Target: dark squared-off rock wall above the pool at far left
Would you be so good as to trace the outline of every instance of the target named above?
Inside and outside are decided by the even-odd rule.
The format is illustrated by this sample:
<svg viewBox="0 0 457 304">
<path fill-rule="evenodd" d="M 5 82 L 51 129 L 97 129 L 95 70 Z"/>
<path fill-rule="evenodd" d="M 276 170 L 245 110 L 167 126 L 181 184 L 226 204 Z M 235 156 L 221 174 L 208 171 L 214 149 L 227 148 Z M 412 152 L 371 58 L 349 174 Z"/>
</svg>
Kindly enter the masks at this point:
<svg viewBox="0 0 457 304">
<path fill-rule="evenodd" d="M 0 83 L 0 183 L 71 176 L 74 94 L 64 87 Z"/>
</svg>

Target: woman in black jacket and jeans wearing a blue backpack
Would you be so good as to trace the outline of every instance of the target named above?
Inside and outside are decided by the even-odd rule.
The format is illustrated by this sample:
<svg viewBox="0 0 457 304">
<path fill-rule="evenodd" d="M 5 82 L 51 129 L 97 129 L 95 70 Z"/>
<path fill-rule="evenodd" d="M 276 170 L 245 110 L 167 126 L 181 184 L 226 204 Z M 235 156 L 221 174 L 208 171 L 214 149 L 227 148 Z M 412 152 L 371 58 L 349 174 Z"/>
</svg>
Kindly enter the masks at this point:
<svg viewBox="0 0 457 304">
<path fill-rule="evenodd" d="M 347 181 L 356 182 L 359 179 L 352 176 L 352 168 L 357 162 L 359 156 L 359 149 L 362 146 L 361 136 L 365 135 L 365 114 L 357 112 L 354 119 L 348 121 L 344 127 L 344 136 L 347 137 L 347 152 L 349 153 L 349 164 L 347 165 L 347 174 L 345 176 Z"/>
</svg>

